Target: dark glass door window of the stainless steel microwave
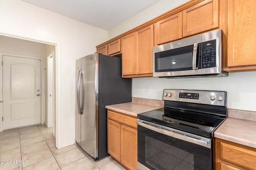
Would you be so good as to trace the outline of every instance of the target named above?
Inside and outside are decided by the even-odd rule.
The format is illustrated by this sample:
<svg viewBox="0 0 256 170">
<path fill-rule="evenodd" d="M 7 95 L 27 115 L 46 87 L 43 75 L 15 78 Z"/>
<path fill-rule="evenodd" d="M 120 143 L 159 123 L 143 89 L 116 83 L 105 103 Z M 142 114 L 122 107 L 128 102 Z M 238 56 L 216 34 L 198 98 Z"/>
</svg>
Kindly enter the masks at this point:
<svg viewBox="0 0 256 170">
<path fill-rule="evenodd" d="M 155 53 L 155 72 L 192 70 L 194 45 Z"/>
</svg>

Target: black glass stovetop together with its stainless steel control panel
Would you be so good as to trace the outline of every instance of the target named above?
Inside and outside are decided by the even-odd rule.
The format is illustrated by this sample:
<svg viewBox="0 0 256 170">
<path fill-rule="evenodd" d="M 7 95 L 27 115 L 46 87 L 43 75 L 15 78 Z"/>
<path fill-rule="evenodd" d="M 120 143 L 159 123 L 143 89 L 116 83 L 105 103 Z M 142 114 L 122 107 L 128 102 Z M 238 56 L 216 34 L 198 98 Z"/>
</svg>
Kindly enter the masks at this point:
<svg viewBox="0 0 256 170">
<path fill-rule="evenodd" d="M 197 94 L 198 99 L 184 98 L 180 95 L 180 91 L 188 96 Z M 214 95 L 216 94 L 218 95 L 216 98 L 220 99 L 218 102 L 215 101 Z M 164 90 L 164 108 L 140 113 L 138 118 L 189 133 L 212 137 L 213 131 L 227 117 L 227 109 L 223 101 L 225 95 L 226 92 Z"/>
</svg>

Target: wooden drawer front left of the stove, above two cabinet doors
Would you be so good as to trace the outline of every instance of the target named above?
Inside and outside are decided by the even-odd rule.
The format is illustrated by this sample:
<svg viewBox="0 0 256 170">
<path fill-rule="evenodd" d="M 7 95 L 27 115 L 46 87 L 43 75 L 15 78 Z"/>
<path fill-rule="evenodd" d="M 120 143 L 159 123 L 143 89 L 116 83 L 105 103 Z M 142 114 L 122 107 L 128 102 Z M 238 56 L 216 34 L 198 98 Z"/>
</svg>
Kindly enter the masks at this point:
<svg viewBox="0 0 256 170">
<path fill-rule="evenodd" d="M 137 129 L 137 124 L 136 124 L 137 118 L 135 117 L 131 117 L 128 115 L 124 115 L 122 113 L 117 113 L 117 112 L 108 110 L 108 119 L 112 119 L 118 123 Z"/>
</svg>

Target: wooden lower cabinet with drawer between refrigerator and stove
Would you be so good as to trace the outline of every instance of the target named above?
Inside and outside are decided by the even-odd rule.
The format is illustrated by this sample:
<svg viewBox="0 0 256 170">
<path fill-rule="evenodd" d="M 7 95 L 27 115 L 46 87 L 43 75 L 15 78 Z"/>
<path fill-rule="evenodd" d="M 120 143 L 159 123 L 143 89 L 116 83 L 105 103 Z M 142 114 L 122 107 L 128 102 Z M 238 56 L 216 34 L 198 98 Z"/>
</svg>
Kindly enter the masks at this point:
<svg viewBox="0 0 256 170">
<path fill-rule="evenodd" d="M 108 110 L 108 154 L 129 170 L 137 170 L 136 117 Z"/>
</svg>

